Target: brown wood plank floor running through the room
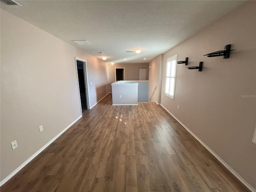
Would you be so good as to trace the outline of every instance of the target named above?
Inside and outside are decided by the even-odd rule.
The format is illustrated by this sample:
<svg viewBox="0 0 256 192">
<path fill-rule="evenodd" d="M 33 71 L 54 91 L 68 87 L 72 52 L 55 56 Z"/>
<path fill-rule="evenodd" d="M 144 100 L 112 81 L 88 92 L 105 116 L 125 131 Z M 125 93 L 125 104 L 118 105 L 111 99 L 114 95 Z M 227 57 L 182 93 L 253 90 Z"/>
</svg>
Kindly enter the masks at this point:
<svg viewBox="0 0 256 192">
<path fill-rule="evenodd" d="M 1 192 L 245 192 L 156 103 L 112 106 L 108 94 Z"/>
</svg>

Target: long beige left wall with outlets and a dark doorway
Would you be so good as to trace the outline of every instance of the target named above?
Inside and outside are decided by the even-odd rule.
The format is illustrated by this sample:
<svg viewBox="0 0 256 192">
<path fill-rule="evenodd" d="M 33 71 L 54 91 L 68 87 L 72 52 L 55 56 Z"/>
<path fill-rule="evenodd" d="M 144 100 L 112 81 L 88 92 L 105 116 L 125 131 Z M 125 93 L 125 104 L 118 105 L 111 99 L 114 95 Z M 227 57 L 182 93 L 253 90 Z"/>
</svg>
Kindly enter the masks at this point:
<svg viewBox="0 0 256 192">
<path fill-rule="evenodd" d="M 105 62 L 2 9 L 0 46 L 3 180 L 81 115 L 75 56 L 87 60 L 91 106 L 108 82 Z"/>
</svg>

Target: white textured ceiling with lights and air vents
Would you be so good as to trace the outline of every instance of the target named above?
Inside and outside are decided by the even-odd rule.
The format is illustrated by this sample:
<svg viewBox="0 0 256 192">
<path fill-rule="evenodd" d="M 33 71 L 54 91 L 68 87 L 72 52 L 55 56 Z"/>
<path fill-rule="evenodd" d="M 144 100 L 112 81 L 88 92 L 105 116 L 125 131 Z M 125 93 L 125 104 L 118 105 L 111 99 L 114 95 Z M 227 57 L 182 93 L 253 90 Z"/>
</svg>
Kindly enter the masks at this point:
<svg viewBox="0 0 256 192">
<path fill-rule="evenodd" d="M 107 63 L 146 63 L 244 1 L 16 2 L 22 7 L 1 3 L 1 8 L 99 59 L 106 56 Z M 88 40 L 92 45 L 77 45 L 71 40 Z M 136 49 L 142 52 L 126 52 Z"/>
</svg>

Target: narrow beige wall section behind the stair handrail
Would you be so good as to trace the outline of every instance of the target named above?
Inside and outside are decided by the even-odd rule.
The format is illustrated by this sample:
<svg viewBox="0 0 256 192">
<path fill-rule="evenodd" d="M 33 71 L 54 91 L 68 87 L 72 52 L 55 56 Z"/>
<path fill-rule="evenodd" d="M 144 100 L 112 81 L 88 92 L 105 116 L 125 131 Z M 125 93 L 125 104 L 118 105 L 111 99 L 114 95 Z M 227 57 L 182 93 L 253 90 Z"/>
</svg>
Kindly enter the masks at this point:
<svg viewBox="0 0 256 192">
<path fill-rule="evenodd" d="M 156 58 L 149 62 L 149 73 L 148 73 L 148 101 L 157 102 L 161 101 L 161 90 L 162 90 L 162 64 L 163 54 L 158 55 Z M 150 68 L 151 67 L 151 68 Z M 153 94 L 151 101 L 149 100 L 154 88 L 157 86 L 155 93 Z"/>
</svg>

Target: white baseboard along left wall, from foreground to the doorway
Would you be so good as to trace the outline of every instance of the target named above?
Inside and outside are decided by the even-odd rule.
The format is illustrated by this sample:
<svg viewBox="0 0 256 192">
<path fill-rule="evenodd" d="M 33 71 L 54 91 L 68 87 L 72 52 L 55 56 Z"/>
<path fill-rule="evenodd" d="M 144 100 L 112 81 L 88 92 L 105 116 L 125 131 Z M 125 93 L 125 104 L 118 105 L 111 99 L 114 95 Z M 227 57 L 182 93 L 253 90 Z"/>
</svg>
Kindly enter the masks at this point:
<svg viewBox="0 0 256 192">
<path fill-rule="evenodd" d="M 52 140 L 50 140 L 48 143 L 46 143 L 42 148 L 40 148 L 36 153 L 34 153 L 30 158 L 28 158 L 28 160 L 26 160 L 24 163 L 22 163 L 20 166 L 18 166 L 18 168 L 16 168 L 13 172 L 11 172 L 11 174 L 9 174 L 6 178 L 4 178 L 0 182 L 0 186 L 5 184 L 10 178 L 12 178 L 16 173 L 18 173 L 24 166 L 26 166 L 26 164 L 28 164 L 32 159 L 34 159 L 38 154 L 40 154 L 40 152 L 42 152 L 46 147 L 48 147 L 52 142 L 54 142 L 54 140 L 56 140 L 59 136 L 61 136 L 66 130 L 68 130 L 68 128 L 70 128 L 81 117 L 82 117 L 82 115 L 80 115 L 76 120 L 74 120 L 71 124 L 69 124 L 58 135 L 56 135 L 54 138 L 52 138 Z"/>
</svg>

